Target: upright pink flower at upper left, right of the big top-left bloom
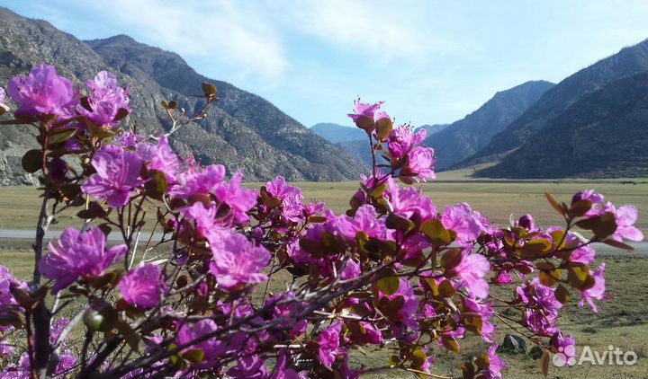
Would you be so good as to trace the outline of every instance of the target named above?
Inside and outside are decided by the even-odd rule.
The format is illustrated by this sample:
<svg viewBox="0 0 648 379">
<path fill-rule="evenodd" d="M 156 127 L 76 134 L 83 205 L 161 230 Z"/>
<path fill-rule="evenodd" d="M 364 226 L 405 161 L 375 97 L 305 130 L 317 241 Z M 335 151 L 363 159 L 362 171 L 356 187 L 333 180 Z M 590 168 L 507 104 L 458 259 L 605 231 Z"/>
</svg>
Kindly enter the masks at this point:
<svg viewBox="0 0 648 379">
<path fill-rule="evenodd" d="M 87 96 L 90 110 L 82 105 L 78 105 L 76 110 L 95 125 L 115 127 L 119 125 L 119 120 L 115 121 L 117 112 L 120 109 L 130 112 L 128 91 L 119 86 L 117 78 L 110 72 L 101 71 L 94 75 L 94 80 L 85 82 L 85 86 L 91 90 Z"/>
</svg>

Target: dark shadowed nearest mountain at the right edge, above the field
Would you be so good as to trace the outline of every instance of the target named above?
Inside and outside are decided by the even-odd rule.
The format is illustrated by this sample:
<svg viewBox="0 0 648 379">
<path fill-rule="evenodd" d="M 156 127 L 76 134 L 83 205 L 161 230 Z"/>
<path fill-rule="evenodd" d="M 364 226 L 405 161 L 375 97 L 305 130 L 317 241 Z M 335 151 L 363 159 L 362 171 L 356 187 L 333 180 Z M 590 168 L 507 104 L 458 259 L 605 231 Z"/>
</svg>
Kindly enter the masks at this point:
<svg viewBox="0 0 648 379">
<path fill-rule="evenodd" d="M 495 178 L 648 176 L 648 71 L 585 94 L 499 164 Z"/>
</svg>

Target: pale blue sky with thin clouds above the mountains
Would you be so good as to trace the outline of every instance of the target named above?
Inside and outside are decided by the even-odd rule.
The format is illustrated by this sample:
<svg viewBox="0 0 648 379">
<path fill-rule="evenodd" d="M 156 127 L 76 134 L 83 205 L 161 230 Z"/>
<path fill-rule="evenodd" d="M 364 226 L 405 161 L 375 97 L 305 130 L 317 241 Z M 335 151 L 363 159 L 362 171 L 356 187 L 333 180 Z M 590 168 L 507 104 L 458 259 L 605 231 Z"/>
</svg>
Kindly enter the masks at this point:
<svg viewBox="0 0 648 379">
<path fill-rule="evenodd" d="M 81 39 L 129 34 L 304 125 L 349 124 L 353 100 L 446 123 L 528 80 L 561 81 L 648 38 L 648 2 L 4 0 Z M 196 84 L 198 85 L 198 84 Z"/>
</svg>

